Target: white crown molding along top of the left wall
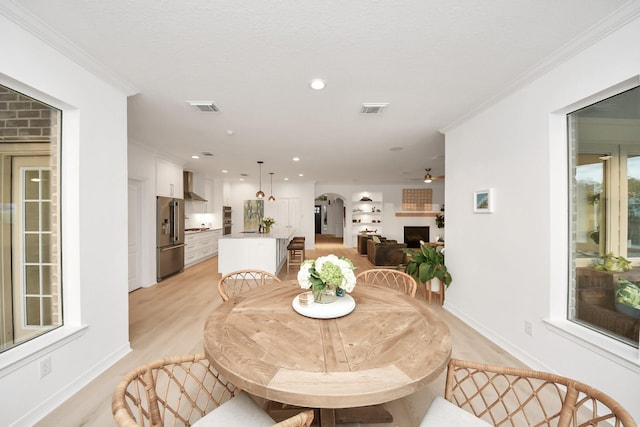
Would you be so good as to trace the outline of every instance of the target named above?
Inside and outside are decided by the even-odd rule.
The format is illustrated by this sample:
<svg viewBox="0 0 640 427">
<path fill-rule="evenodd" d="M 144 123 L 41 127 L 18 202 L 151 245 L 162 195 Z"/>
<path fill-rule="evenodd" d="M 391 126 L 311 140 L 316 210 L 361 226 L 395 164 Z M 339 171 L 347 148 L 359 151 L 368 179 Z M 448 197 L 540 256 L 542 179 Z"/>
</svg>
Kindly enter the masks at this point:
<svg viewBox="0 0 640 427">
<path fill-rule="evenodd" d="M 131 82 L 118 76 L 105 64 L 80 49 L 17 1 L 1 0 L 0 14 L 125 95 L 131 96 L 140 92 Z"/>
</svg>

